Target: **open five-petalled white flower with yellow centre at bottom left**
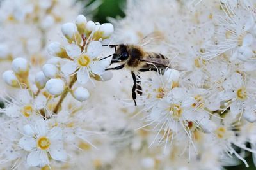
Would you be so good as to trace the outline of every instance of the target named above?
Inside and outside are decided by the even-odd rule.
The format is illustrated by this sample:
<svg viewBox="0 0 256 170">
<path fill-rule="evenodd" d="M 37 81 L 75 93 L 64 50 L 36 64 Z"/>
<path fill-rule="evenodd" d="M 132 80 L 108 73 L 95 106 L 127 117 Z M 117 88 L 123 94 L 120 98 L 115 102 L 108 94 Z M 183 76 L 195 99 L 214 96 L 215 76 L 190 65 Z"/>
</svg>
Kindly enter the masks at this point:
<svg viewBox="0 0 256 170">
<path fill-rule="evenodd" d="M 63 136 L 60 127 L 51 129 L 45 120 L 37 120 L 35 124 L 29 125 L 31 130 L 24 131 L 24 135 L 19 140 L 19 145 L 28 151 L 27 164 L 29 166 L 45 166 L 49 164 L 47 153 L 54 160 L 65 161 L 67 153 L 63 148 Z M 28 125 L 24 127 L 28 129 Z"/>
</svg>

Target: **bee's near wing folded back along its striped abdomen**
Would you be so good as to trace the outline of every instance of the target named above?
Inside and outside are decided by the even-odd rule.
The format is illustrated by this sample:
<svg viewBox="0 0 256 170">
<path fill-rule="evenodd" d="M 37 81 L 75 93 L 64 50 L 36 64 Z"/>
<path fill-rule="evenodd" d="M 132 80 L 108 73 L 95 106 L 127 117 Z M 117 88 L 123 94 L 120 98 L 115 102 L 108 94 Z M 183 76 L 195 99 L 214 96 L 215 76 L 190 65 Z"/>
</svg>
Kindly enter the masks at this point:
<svg viewBox="0 0 256 170">
<path fill-rule="evenodd" d="M 170 68 L 170 69 L 176 69 L 179 71 L 187 71 L 185 67 L 180 66 L 177 62 L 170 62 L 168 59 L 158 59 L 158 58 L 152 58 L 152 57 L 144 57 L 141 59 L 143 62 L 147 62 L 148 64 L 155 65 L 158 68 Z"/>
</svg>

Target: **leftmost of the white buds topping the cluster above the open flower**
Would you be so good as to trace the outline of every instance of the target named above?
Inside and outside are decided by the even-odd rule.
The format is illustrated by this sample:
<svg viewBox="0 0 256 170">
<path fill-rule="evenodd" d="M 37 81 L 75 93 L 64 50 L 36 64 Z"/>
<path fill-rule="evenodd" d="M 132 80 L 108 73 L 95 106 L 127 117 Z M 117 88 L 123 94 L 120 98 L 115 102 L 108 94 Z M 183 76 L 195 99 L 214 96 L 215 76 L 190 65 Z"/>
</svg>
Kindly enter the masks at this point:
<svg viewBox="0 0 256 170">
<path fill-rule="evenodd" d="M 81 36 L 77 32 L 76 25 L 71 22 L 63 24 L 61 27 L 61 31 L 62 31 L 62 34 L 67 38 L 68 43 L 72 43 L 72 42 L 80 43 L 82 41 Z"/>
</svg>

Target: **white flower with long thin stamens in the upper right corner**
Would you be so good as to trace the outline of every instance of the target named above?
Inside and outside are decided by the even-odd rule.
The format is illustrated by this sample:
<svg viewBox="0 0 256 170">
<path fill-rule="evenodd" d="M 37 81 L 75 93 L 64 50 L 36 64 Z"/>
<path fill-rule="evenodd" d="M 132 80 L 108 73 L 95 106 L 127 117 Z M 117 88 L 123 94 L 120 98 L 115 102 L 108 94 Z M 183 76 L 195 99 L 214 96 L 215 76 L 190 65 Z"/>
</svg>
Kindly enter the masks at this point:
<svg viewBox="0 0 256 170">
<path fill-rule="evenodd" d="M 243 3 L 237 6 L 235 1 L 226 1 L 225 15 L 220 15 L 218 29 L 216 31 L 217 41 L 214 42 L 204 54 L 204 57 L 216 57 L 221 53 L 231 52 L 230 60 L 252 60 L 253 59 L 253 26 L 255 25 L 255 17 L 252 11 L 244 8 Z M 228 13 L 232 13 L 230 16 Z"/>
</svg>

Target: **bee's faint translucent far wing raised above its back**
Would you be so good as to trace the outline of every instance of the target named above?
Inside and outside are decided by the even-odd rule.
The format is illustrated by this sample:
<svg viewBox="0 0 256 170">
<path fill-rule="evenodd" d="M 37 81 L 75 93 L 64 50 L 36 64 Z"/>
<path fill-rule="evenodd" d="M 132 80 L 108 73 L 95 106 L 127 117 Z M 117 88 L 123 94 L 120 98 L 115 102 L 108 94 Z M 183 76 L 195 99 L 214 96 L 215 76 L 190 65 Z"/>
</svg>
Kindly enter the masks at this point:
<svg viewBox="0 0 256 170">
<path fill-rule="evenodd" d="M 141 41 L 138 43 L 140 46 L 146 46 L 146 45 L 154 45 L 159 43 L 160 41 L 163 41 L 163 35 L 161 32 L 154 31 L 147 36 L 145 36 Z"/>
</svg>

